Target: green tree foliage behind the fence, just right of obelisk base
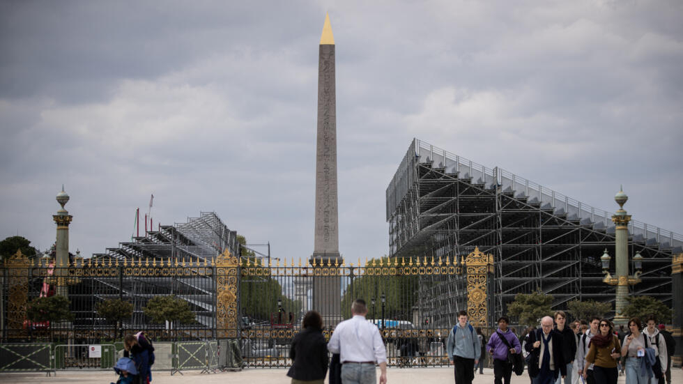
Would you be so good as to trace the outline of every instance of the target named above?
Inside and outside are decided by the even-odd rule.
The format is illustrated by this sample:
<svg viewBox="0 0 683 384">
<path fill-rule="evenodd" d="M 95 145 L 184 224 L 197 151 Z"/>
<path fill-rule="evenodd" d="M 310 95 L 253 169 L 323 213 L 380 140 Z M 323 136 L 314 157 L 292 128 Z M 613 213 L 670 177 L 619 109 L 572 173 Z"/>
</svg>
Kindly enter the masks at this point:
<svg viewBox="0 0 683 384">
<path fill-rule="evenodd" d="M 378 266 L 382 263 L 387 265 L 389 258 L 384 256 L 380 259 L 371 259 L 369 266 Z M 358 270 L 358 269 L 356 269 Z M 353 279 L 346 286 L 342 297 L 342 314 L 345 318 L 351 317 L 351 304 L 355 299 L 365 300 L 368 307 L 368 318 L 381 318 L 381 296 L 385 295 L 384 317 L 412 321 L 412 309 L 417 300 L 418 277 L 415 275 L 369 275 L 366 273 Z M 351 295 L 353 292 L 353 295 Z M 375 308 L 371 305 L 372 299 L 376 300 Z M 374 313 L 373 313 L 374 312 Z"/>
</svg>

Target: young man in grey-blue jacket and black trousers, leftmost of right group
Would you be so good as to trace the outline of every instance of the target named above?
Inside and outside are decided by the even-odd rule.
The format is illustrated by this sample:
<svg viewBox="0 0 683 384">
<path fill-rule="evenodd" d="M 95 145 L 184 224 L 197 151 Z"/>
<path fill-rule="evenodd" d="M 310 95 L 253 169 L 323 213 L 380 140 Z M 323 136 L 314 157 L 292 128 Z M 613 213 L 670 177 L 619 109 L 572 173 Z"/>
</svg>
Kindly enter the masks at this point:
<svg viewBox="0 0 683 384">
<path fill-rule="evenodd" d="M 482 345 L 474 327 L 467 321 L 467 312 L 458 313 L 458 323 L 448 334 L 446 353 L 455 366 L 455 384 L 472 384 L 475 364 L 479 362 Z"/>
</svg>

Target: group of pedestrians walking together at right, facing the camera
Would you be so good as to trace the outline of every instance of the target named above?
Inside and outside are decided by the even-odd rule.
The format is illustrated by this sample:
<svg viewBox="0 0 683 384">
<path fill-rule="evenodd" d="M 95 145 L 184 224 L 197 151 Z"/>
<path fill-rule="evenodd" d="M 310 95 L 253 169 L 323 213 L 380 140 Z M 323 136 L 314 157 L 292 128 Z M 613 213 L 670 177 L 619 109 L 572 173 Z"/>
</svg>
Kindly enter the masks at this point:
<svg viewBox="0 0 683 384">
<path fill-rule="evenodd" d="M 509 318 L 501 316 L 486 341 L 481 328 L 475 333 L 467 313 L 460 312 L 446 348 L 455 383 L 471 384 L 477 368 L 482 373 L 486 355 L 493 361 L 494 384 L 509 384 L 513 372 L 521 375 L 524 365 L 531 384 L 616 384 L 620 375 L 627 384 L 671 383 L 675 341 L 654 315 L 644 323 L 631 318 L 628 330 L 615 330 L 612 321 L 599 316 L 567 324 L 563 311 L 540 323 L 518 337 L 508 328 Z"/>
</svg>

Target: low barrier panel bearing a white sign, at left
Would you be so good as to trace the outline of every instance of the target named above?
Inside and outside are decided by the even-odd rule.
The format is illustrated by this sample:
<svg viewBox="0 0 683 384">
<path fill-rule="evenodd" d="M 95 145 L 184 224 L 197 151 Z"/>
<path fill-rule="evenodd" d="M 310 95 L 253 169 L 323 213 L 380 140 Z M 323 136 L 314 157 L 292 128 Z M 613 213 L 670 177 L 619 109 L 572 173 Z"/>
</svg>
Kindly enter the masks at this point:
<svg viewBox="0 0 683 384">
<path fill-rule="evenodd" d="M 117 358 L 114 344 L 63 344 L 54 347 L 54 369 L 112 369 Z"/>
</svg>

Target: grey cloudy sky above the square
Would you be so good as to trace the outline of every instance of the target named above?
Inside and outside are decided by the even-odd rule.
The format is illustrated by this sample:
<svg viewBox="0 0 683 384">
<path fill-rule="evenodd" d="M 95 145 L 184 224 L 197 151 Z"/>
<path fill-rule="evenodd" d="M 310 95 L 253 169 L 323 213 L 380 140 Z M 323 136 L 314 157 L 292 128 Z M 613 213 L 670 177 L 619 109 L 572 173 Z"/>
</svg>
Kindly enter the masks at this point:
<svg viewBox="0 0 683 384">
<path fill-rule="evenodd" d="M 0 238 L 52 245 L 64 184 L 72 252 L 153 193 L 309 256 L 326 12 L 346 258 L 388 252 L 413 137 L 683 233 L 682 1 L 1 1 Z"/>
</svg>

